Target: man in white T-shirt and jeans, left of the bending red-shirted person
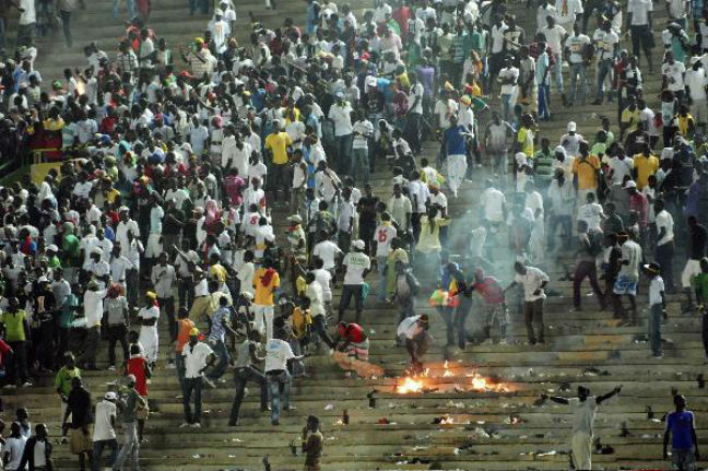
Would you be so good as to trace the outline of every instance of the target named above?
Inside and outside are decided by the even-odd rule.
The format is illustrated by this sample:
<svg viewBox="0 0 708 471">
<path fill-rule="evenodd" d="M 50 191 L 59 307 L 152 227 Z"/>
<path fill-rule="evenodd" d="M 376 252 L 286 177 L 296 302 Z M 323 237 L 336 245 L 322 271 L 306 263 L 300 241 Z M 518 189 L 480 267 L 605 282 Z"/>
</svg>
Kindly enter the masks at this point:
<svg viewBox="0 0 708 471">
<path fill-rule="evenodd" d="M 272 338 L 266 344 L 266 380 L 271 400 L 271 424 L 280 425 L 281 400 L 283 410 L 288 411 L 290 407 L 290 388 L 291 375 L 287 372 L 287 362 L 291 360 L 302 360 L 303 355 L 297 356 L 293 353 L 290 343 L 285 340 L 292 337 L 293 331 L 286 326 L 279 332 L 278 338 Z"/>
</svg>

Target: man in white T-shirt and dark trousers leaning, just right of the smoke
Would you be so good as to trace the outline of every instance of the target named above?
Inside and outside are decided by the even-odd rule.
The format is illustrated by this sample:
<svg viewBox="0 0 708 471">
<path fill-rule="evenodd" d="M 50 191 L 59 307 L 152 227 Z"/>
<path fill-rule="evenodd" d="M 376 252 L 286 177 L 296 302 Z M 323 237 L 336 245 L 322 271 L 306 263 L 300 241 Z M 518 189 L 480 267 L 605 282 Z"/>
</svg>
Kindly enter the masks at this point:
<svg viewBox="0 0 708 471">
<path fill-rule="evenodd" d="M 505 292 L 516 285 L 523 287 L 523 320 L 527 326 L 529 344 L 545 343 L 543 335 L 543 305 L 546 298 L 544 287 L 551 279 L 538 268 L 527 267 L 518 261 L 514 263 L 514 270 L 517 274 Z"/>
</svg>

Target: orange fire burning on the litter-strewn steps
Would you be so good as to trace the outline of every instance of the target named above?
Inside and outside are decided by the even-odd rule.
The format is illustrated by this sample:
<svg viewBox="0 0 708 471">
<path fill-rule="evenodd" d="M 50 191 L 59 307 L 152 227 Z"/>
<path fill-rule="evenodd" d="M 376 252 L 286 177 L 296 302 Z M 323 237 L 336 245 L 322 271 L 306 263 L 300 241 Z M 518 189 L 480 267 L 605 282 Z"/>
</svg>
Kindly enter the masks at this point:
<svg viewBox="0 0 708 471">
<path fill-rule="evenodd" d="M 399 395 L 418 392 L 510 392 L 510 385 L 497 382 L 464 366 L 450 368 L 446 361 L 440 367 L 428 365 L 423 373 L 399 378 L 393 391 Z"/>
</svg>

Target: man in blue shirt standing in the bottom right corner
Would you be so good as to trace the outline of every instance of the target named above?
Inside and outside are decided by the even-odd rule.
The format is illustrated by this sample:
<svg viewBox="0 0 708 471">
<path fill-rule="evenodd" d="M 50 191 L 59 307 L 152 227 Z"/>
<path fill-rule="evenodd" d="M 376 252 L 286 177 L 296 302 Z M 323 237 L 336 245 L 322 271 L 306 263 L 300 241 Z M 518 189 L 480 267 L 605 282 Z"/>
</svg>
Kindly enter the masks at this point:
<svg viewBox="0 0 708 471">
<path fill-rule="evenodd" d="M 664 432 L 663 458 L 669 459 L 666 446 L 669 437 L 671 440 L 671 455 L 674 469 L 681 471 L 693 471 L 696 461 L 700 459 L 698 454 L 698 439 L 694 425 L 693 412 L 686 411 L 686 398 L 683 395 L 674 396 L 675 412 L 666 415 L 666 431 Z"/>
</svg>

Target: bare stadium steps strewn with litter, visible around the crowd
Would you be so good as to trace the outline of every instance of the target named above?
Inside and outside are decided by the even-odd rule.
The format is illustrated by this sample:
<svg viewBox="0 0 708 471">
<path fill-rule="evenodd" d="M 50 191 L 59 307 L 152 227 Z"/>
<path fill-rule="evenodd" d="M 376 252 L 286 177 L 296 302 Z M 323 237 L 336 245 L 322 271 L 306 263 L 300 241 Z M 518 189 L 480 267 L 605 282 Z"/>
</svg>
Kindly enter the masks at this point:
<svg viewBox="0 0 708 471">
<path fill-rule="evenodd" d="M 367 2 L 368 3 L 368 2 Z M 176 51 L 178 43 L 188 43 L 200 35 L 208 19 L 190 16 L 187 1 L 154 0 L 150 25 L 158 36 L 164 36 Z M 238 4 L 237 35 L 243 42 L 248 33 L 247 12 L 269 27 L 276 27 L 282 19 L 292 15 L 296 24 L 304 21 L 303 2 L 280 2 L 276 11 L 264 10 L 261 2 L 248 0 Z M 356 4 L 356 7 L 363 7 Z M 534 30 L 535 15 L 526 14 L 522 3 L 512 3 L 527 33 Z M 45 79 L 61 76 L 64 67 L 83 66 L 81 46 L 96 40 L 106 51 L 115 50 L 123 28 L 113 20 L 110 0 L 93 0 L 87 9 L 76 13 L 76 47 L 66 50 L 60 36 L 39 40 L 38 67 Z M 125 19 L 125 12 L 121 11 Z M 660 13 L 661 15 L 661 13 Z M 659 17 L 656 24 L 662 24 Z M 12 31 L 12 30 L 11 30 Z M 13 33 L 9 33 L 10 36 Z M 654 49 L 654 63 L 660 63 Z M 658 76 L 646 79 L 650 104 L 656 105 L 654 91 Z M 491 98 L 496 107 L 498 99 Z M 554 119 L 542 122 L 541 134 L 552 141 L 565 132 L 565 122 L 576 120 L 578 131 L 590 138 L 599 121 L 593 114 L 606 113 L 614 117 L 609 106 L 575 106 L 559 108 L 554 105 Z M 483 118 L 484 119 L 484 118 Z M 615 120 L 613 119 L 613 122 Z M 435 155 L 437 145 L 426 143 L 424 155 Z M 379 167 L 381 168 L 381 167 Z M 474 178 L 463 184 L 460 197 L 449 200 L 453 235 L 464 236 L 476 224 L 469 204 L 474 204 L 482 190 L 486 174 L 475 170 Z M 390 197 L 390 174 L 379 170 L 373 176 L 375 191 L 381 198 Z M 286 212 L 273 209 L 276 234 L 282 234 Z M 505 235 L 502 234 L 500 237 Z M 456 251 L 457 250 L 457 251 Z M 453 247 L 453 252 L 464 248 Z M 505 283 L 510 280 L 506 258 L 497 261 L 498 273 Z M 560 263 L 570 264 L 569 252 L 560 254 Z M 426 390 L 416 393 L 398 393 L 397 385 L 404 375 L 406 355 L 396 348 L 393 338 L 398 320 L 394 306 L 380 303 L 375 296 L 367 299 L 363 325 L 370 329 L 371 361 L 386 369 L 379 378 L 346 378 L 327 355 L 306 358 L 308 377 L 294 381 L 292 402 L 297 408 L 285 412 L 278 427 L 270 425 L 268 414 L 260 413 L 258 398 L 250 387 L 241 409 L 241 425 L 227 427 L 233 400 L 231 372 L 225 384 L 204 393 L 205 415 L 203 428 L 178 428 L 182 421 L 181 400 L 174 369 L 165 367 L 172 356 L 170 345 L 161 345 L 158 367 L 150 385 L 150 398 L 158 404 L 146 424 L 148 443 L 141 448 L 144 470 L 220 470 L 263 469 L 262 459 L 269 457 L 273 470 L 300 469 L 303 457 L 293 457 L 290 445 L 298 445 L 299 433 L 308 414 L 322 420 L 326 470 L 375 469 L 467 469 L 467 470 L 558 470 L 568 466 L 568 440 L 571 414 L 567 407 L 538 402 L 541 392 L 573 395 L 579 384 L 591 387 L 593 393 L 604 393 L 622 385 L 622 395 L 599 409 L 595 436 L 604 445 L 605 454 L 593 457 L 595 469 L 665 468 L 661 461 L 661 434 L 663 414 L 672 409 L 671 389 L 686 395 L 689 408 L 697 412 L 698 437 L 708 444 L 708 398 L 704 384 L 698 380 L 705 372 L 700 342 L 700 318 L 682 315 L 677 297 L 670 296 L 669 320 L 663 326 L 664 357 L 650 358 L 646 342 L 646 327 L 622 327 L 612 314 L 599 311 L 592 296 L 583 296 L 583 310 L 570 311 L 573 286 L 558 281 L 562 268 L 550 270 L 554 292 L 546 305 L 547 344 L 523 344 L 526 330 L 518 315 L 511 316 L 508 344 L 468 346 L 463 352 L 446 351 L 441 346 L 445 325 L 426 303 L 429 290 L 422 293 L 416 310 L 432 319 L 435 346 L 427 355 L 429 374 Z M 368 281 L 375 285 L 376 273 Z M 587 293 L 588 286 L 583 286 Z M 334 303 L 339 299 L 335 291 Z M 646 307 L 646 290 L 639 296 L 640 309 Z M 351 315 L 351 313 L 349 313 Z M 468 319 L 468 328 L 479 328 L 482 318 L 479 306 Z M 642 320 L 645 316 L 641 316 Z M 167 330 L 161 319 L 161 338 Z M 102 343 L 98 372 L 84 374 L 94 400 L 114 388 L 119 373 L 109 372 L 106 344 Z M 447 367 L 445 360 L 448 360 Z M 475 376 L 480 375 L 480 376 Z M 473 388 L 472 380 L 476 378 Z M 488 387 L 480 385 L 481 379 Z M 14 408 L 28 408 L 34 423 L 46 422 L 52 439 L 59 436 L 59 399 L 52 377 L 39 378 L 36 386 L 4 393 L 5 416 Z M 367 393 L 376 390 L 376 408 L 369 407 Z M 341 423 L 343 411 L 350 424 Z M 653 412 L 648 412 L 653 411 Z M 120 422 L 120 421 L 118 421 Z M 624 431 L 624 432 L 623 432 Z M 56 468 L 76 470 L 76 459 L 66 445 L 55 447 Z"/>
</svg>

